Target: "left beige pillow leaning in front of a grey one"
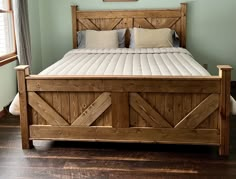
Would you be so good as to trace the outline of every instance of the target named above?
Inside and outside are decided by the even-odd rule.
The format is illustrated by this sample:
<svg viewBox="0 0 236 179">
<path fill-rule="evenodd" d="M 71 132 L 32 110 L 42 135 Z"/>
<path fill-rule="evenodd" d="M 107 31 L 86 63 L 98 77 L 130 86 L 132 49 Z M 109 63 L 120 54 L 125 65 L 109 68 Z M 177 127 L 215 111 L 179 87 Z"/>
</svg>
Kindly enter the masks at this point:
<svg viewBox="0 0 236 179">
<path fill-rule="evenodd" d="M 117 31 L 86 31 L 86 48 L 118 48 Z"/>
</svg>

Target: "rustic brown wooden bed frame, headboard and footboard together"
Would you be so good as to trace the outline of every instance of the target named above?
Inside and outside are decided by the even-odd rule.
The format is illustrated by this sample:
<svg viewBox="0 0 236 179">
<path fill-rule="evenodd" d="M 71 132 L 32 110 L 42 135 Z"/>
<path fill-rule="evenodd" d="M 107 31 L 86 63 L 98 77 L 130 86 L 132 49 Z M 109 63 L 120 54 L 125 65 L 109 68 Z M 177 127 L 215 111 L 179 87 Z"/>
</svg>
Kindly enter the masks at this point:
<svg viewBox="0 0 236 179">
<path fill-rule="evenodd" d="M 77 11 L 77 31 L 175 29 L 186 46 L 186 4 L 174 10 Z M 128 37 L 128 36 L 127 36 Z M 17 69 L 22 147 L 33 140 L 219 146 L 229 154 L 231 67 L 219 76 L 38 76 Z"/>
</svg>

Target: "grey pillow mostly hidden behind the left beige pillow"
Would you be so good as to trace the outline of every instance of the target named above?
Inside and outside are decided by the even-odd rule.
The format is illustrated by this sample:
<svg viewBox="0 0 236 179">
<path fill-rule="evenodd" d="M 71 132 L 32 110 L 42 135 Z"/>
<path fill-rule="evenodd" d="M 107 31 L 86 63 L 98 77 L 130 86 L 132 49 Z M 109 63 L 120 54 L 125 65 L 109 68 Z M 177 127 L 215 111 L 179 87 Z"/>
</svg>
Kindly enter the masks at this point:
<svg viewBox="0 0 236 179">
<path fill-rule="evenodd" d="M 114 30 L 118 33 L 119 48 L 125 48 L 125 32 L 126 29 Z M 78 48 L 86 48 L 86 31 L 78 31 Z"/>
</svg>

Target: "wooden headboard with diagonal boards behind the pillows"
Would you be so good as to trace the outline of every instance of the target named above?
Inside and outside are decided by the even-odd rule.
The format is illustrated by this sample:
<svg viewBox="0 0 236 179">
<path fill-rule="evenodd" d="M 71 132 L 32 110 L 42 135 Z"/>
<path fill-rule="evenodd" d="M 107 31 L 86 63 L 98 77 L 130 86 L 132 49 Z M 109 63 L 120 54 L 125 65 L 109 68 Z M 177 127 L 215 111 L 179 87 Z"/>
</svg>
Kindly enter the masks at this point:
<svg viewBox="0 0 236 179">
<path fill-rule="evenodd" d="M 73 48 L 77 48 L 77 31 L 132 27 L 174 29 L 180 37 L 180 46 L 186 47 L 186 3 L 182 3 L 179 9 L 164 10 L 79 11 L 77 6 L 71 8 Z M 126 38 L 129 43 L 129 35 Z"/>
</svg>

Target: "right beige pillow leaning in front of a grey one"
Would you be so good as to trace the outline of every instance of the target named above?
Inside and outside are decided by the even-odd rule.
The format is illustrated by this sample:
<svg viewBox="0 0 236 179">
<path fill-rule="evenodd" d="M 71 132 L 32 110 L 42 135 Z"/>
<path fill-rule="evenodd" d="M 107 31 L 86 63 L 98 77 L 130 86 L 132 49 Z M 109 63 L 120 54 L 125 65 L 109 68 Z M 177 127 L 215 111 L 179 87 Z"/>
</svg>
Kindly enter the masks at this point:
<svg viewBox="0 0 236 179">
<path fill-rule="evenodd" d="M 135 48 L 173 47 L 173 31 L 169 28 L 142 29 L 134 28 Z"/>
</svg>

